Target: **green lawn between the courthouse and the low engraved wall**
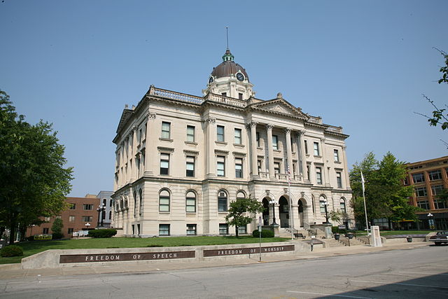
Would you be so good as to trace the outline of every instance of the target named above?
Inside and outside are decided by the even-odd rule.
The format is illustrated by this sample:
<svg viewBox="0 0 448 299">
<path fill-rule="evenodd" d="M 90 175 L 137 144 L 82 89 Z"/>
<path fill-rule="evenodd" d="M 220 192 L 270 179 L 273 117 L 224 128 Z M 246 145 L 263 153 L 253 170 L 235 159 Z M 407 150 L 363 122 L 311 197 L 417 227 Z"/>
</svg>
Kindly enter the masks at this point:
<svg viewBox="0 0 448 299">
<path fill-rule="evenodd" d="M 262 238 L 261 242 L 283 242 L 285 238 Z M 224 244 L 258 243 L 259 239 L 252 236 L 241 237 L 155 237 L 129 238 L 113 237 L 104 239 L 61 239 L 36 240 L 16 243 L 22 247 L 24 256 L 1 258 L 0 264 L 20 263 L 22 258 L 49 249 L 96 249 L 96 248 L 137 248 L 137 247 L 169 247 L 169 246 L 204 246 Z"/>
</svg>

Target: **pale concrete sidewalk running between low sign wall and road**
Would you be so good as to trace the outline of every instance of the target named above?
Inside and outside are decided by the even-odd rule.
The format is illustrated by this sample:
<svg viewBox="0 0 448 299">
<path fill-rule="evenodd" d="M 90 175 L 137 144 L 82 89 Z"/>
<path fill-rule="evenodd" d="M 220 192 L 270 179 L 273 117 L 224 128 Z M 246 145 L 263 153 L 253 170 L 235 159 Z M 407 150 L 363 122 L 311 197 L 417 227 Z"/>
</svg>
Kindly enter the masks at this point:
<svg viewBox="0 0 448 299">
<path fill-rule="evenodd" d="M 330 248 L 314 249 L 314 251 L 303 252 L 300 256 L 275 256 L 262 254 L 262 260 L 259 261 L 258 254 L 251 258 L 236 258 L 235 260 L 204 260 L 195 263 L 181 263 L 176 261 L 167 261 L 167 263 L 132 263 L 132 265 L 120 262 L 111 265 L 83 265 L 78 267 L 63 267 L 52 269 L 20 269 L 20 264 L 0 265 L 0 279 L 13 278 L 33 278 L 45 276 L 68 276 L 85 274 L 105 274 L 105 273 L 125 273 L 125 272 L 152 272 L 167 270 L 183 270 L 201 267 L 223 267 L 228 265 L 251 265 L 257 263 L 274 263 L 284 260 L 307 260 L 311 258 L 327 258 L 332 256 L 346 256 L 350 254 L 371 253 L 379 251 L 388 251 L 395 249 L 415 249 L 429 246 L 430 242 L 412 242 L 405 240 L 402 242 L 386 242 L 382 247 L 372 247 L 367 245 L 358 246 L 340 246 Z"/>
</svg>

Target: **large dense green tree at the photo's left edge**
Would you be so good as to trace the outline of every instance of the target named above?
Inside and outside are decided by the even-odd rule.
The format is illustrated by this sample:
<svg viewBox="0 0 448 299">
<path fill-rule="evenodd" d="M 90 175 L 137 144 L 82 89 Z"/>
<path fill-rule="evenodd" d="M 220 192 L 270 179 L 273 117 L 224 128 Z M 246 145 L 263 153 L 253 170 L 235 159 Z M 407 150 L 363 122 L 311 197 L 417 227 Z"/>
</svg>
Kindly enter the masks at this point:
<svg viewBox="0 0 448 299">
<path fill-rule="evenodd" d="M 0 90 L 0 225 L 10 229 L 10 244 L 18 227 L 66 208 L 73 171 L 58 141 L 51 124 L 30 125 Z"/>
</svg>

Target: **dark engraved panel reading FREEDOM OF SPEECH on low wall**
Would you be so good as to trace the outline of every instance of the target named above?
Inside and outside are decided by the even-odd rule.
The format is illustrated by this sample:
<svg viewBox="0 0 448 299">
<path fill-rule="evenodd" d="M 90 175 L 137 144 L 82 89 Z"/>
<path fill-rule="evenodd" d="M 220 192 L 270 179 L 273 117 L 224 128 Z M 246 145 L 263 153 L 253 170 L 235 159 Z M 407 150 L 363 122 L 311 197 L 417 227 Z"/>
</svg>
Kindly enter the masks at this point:
<svg viewBox="0 0 448 299">
<path fill-rule="evenodd" d="M 67 254 L 59 257 L 59 263 L 121 262 L 124 260 L 172 260 L 176 258 L 195 258 L 195 256 L 195 251 Z"/>
</svg>

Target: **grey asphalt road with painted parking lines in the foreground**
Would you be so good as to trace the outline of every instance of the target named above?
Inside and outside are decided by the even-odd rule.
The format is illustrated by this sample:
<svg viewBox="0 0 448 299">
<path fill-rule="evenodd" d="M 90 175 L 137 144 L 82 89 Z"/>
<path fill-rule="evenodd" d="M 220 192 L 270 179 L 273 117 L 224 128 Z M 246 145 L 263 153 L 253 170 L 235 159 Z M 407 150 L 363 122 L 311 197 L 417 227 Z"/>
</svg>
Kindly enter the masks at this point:
<svg viewBox="0 0 448 299">
<path fill-rule="evenodd" d="M 448 298 L 448 246 L 163 272 L 0 280 L 0 298 Z"/>
</svg>

